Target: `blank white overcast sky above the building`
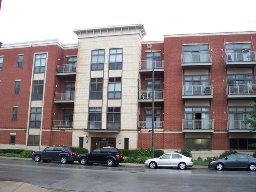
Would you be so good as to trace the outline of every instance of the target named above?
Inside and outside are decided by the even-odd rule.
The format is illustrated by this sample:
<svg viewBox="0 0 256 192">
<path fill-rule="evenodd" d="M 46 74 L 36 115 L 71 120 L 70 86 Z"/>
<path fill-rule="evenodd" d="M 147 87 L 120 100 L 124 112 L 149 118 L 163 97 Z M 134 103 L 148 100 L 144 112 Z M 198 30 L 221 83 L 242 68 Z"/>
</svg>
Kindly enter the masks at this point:
<svg viewBox="0 0 256 192">
<path fill-rule="evenodd" d="M 2 0 L 0 42 L 78 42 L 74 29 L 144 24 L 144 41 L 168 34 L 256 30 L 256 0 Z"/>
</svg>

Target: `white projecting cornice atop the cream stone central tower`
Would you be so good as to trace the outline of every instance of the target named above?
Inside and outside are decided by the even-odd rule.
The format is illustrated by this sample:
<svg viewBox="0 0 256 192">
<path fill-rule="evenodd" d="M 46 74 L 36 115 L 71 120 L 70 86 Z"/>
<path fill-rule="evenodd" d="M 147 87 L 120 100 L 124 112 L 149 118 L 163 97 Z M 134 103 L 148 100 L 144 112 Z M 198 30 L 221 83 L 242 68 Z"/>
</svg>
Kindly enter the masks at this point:
<svg viewBox="0 0 256 192">
<path fill-rule="evenodd" d="M 143 24 L 134 25 L 114 25 L 95 28 L 75 29 L 74 33 L 78 38 L 116 36 L 116 35 L 130 35 L 139 34 L 141 38 L 146 35 Z"/>
</svg>

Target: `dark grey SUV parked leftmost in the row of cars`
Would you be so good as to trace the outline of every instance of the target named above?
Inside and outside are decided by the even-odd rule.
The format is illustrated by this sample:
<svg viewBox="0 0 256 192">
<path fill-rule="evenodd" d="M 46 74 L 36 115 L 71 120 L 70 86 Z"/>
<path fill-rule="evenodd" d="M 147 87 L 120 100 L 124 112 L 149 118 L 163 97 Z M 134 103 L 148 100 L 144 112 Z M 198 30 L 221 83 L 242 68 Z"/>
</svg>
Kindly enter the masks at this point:
<svg viewBox="0 0 256 192">
<path fill-rule="evenodd" d="M 47 147 L 43 151 L 36 151 L 32 154 L 32 159 L 35 162 L 48 161 L 60 161 L 62 164 L 74 163 L 77 161 L 78 154 L 76 150 L 72 147 L 67 146 L 52 146 Z"/>
</svg>

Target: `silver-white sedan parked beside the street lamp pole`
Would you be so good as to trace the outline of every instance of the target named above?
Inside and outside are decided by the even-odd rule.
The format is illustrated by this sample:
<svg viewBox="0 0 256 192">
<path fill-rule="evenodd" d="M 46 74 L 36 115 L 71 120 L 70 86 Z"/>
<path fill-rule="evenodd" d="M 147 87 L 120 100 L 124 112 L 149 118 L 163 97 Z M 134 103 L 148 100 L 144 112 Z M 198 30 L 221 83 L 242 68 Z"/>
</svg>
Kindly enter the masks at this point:
<svg viewBox="0 0 256 192">
<path fill-rule="evenodd" d="M 194 165 L 192 158 L 179 153 L 166 153 L 159 158 L 148 159 L 144 164 L 152 169 L 157 167 L 178 167 L 180 169 L 186 169 Z"/>
</svg>

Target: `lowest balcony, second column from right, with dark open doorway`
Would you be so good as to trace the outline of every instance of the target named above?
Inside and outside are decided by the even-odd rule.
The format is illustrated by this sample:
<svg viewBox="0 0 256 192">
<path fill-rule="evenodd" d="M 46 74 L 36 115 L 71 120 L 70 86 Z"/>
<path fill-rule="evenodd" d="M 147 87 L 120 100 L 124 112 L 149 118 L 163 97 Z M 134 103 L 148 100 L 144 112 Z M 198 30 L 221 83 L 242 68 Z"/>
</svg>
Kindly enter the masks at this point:
<svg viewBox="0 0 256 192">
<path fill-rule="evenodd" d="M 182 132 L 214 132 L 214 119 L 182 119 Z"/>
</svg>

